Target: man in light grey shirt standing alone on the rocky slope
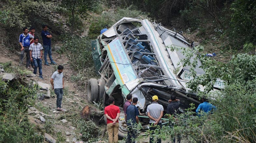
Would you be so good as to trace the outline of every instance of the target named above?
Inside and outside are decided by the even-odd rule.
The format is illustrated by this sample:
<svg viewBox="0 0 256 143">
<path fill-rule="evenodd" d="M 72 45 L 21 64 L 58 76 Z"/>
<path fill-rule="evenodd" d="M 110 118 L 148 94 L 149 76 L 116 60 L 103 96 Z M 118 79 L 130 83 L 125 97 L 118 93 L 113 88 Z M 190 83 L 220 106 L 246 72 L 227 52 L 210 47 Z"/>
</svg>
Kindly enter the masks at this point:
<svg viewBox="0 0 256 143">
<path fill-rule="evenodd" d="M 63 66 L 59 65 L 58 70 L 55 71 L 50 79 L 52 89 L 54 89 L 54 93 L 57 95 L 57 110 L 64 111 L 64 109 L 61 108 L 61 102 L 63 97 L 63 88 L 64 88 L 64 78 L 63 78 Z"/>
</svg>

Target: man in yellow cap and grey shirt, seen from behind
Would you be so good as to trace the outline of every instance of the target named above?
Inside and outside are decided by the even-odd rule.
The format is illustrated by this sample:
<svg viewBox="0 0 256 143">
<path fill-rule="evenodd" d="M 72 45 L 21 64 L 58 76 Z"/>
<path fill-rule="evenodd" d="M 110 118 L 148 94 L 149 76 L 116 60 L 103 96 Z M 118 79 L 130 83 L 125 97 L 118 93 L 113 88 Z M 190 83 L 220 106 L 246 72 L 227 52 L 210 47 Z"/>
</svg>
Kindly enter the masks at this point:
<svg viewBox="0 0 256 143">
<path fill-rule="evenodd" d="M 149 130 L 155 130 L 156 125 L 159 125 L 160 127 L 162 127 L 162 120 L 161 118 L 163 117 L 164 114 L 164 107 L 163 105 L 160 105 L 157 103 L 158 101 L 158 97 L 157 95 L 154 95 L 152 97 L 152 104 L 148 105 L 147 107 L 147 113 L 149 116 Z M 149 138 L 149 143 L 153 143 L 154 142 L 154 138 L 152 137 L 152 134 L 154 134 L 153 132 L 151 132 L 151 136 Z M 157 138 L 157 143 L 161 143 L 161 138 Z"/>
</svg>

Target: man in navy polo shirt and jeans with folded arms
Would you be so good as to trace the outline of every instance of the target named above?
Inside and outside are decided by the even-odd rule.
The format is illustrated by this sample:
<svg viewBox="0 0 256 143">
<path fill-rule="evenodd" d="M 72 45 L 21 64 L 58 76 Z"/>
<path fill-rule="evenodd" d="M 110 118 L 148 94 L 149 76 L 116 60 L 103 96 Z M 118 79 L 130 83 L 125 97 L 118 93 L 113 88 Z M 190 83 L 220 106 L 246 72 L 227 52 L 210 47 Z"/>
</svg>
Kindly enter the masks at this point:
<svg viewBox="0 0 256 143">
<path fill-rule="evenodd" d="M 47 54 L 49 55 L 49 59 L 51 61 L 50 64 L 54 64 L 56 65 L 57 63 L 55 61 L 52 60 L 51 57 L 51 34 L 49 33 L 48 26 L 47 25 L 43 25 L 43 30 L 41 32 L 41 36 L 43 39 L 43 45 L 44 45 L 44 64 L 47 66 L 50 66 L 49 63 L 47 62 Z"/>
</svg>

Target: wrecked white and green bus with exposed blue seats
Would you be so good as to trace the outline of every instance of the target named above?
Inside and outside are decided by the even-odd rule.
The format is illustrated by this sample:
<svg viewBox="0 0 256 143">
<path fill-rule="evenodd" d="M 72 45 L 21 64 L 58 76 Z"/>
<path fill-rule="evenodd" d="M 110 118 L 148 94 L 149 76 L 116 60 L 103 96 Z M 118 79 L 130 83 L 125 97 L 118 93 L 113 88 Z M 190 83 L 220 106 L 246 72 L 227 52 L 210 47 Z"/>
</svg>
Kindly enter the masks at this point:
<svg viewBox="0 0 256 143">
<path fill-rule="evenodd" d="M 145 114 L 153 95 L 158 96 L 159 104 L 165 109 L 173 94 L 180 99 L 181 110 L 190 107 L 190 103 L 200 104 L 186 85 L 192 79 L 190 67 L 181 62 L 186 57 L 180 50 L 167 48 L 194 47 L 180 32 L 148 19 L 123 17 L 92 40 L 91 45 L 95 68 L 101 78 L 89 80 L 89 102 L 112 96 L 115 104 L 122 107 L 125 97 L 132 94 L 138 98 L 136 106 L 140 114 Z M 204 74 L 200 66 L 198 60 L 195 71 Z M 123 122 L 121 131 L 125 130 Z"/>
</svg>

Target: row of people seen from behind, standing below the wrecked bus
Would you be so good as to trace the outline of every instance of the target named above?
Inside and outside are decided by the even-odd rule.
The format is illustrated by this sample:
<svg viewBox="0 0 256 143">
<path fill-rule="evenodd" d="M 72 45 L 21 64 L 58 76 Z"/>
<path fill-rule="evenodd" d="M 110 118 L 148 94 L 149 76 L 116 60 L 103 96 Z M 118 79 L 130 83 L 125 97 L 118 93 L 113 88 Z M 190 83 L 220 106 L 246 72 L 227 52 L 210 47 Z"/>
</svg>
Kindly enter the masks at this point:
<svg viewBox="0 0 256 143">
<path fill-rule="evenodd" d="M 132 95 L 129 94 L 126 96 L 127 101 L 124 103 L 124 114 L 125 114 L 125 121 L 127 124 L 127 139 L 126 143 L 135 143 L 136 138 L 136 126 L 139 123 L 139 111 L 138 108 L 135 106 L 138 103 L 138 98 L 132 98 Z M 215 110 L 216 107 L 212 104 L 208 103 L 206 98 L 203 98 L 203 103 L 201 103 L 198 108 L 196 109 L 196 113 L 200 116 L 200 111 L 204 111 L 203 113 L 210 113 L 211 111 Z M 118 142 L 118 118 L 120 116 L 120 109 L 118 106 L 114 105 L 115 100 L 114 98 L 109 98 L 110 105 L 105 108 L 105 116 L 107 117 L 107 132 L 108 132 L 108 142 L 109 143 L 117 143 Z M 175 95 L 171 96 L 171 99 L 168 100 L 169 104 L 167 106 L 166 113 L 169 116 L 173 116 L 174 118 L 177 117 L 177 114 L 179 114 L 179 108 L 180 108 L 180 100 L 176 98 Z M 152 103 L 148 105 L 147 107 L 147 115 L 149 117 L 149 130 L 151 131 L 151 135 L 149 138 L 149 142 L 153 143 L 154 138 L 153 134 L 155 130 L 158 127 L 162 127 L 162 120 L 161 118 L 164 115 L 164 107 L 163 105 L 158 104 L 158 96 L 154 95 L 152 96 Z M 170 127 L 173 127 L 173 125 L 170 124 Z M 114 137 L 113 137 L 114 135 Z M 180 143 L 181 138 L 180 134 L 178 135 L 178 143 Z M 156 136 L 157 137 L 157 136 Z M 157 143 L 161 143 L 161 138 L 156 139 Z M 175 137 L 173 138 L 173 143 L 175 143 Z"/>
</svg>

